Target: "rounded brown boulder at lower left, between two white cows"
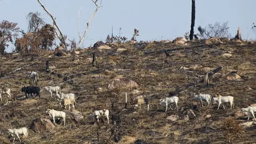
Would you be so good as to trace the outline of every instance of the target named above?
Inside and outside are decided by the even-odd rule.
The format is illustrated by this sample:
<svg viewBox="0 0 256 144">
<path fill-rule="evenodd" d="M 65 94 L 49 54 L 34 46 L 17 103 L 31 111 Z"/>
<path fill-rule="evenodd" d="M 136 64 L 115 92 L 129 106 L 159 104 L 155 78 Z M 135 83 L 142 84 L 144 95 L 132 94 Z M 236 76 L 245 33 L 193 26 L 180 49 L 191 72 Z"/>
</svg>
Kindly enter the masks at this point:
<svg viewBox="0 0 256 144">
<path fill-rule="evenodd" d="M 50 119 L 38 117 L 32 123 L 32 129 L 37 133 L 44 133 L 53 130 L 55 125 L 50 121 Z"/>
</svg>

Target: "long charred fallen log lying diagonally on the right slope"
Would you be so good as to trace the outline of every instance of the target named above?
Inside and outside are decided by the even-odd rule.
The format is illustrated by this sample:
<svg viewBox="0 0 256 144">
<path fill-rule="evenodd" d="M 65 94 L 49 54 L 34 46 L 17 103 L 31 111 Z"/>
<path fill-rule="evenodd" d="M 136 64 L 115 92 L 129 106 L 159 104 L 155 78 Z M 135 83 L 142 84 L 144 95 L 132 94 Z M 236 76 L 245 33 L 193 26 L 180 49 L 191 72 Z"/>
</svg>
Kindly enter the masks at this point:
<svg viewBox="0 0 256 144">
<path fill-rule="evenodd" d="M 215 73 L 218 73 L 218 71 L 220 71 L 221 69 L 222 69 L 222 67 L 218 67 L 217 69 L 214 69 L 213 71 L 209 72 L 209 73 L 208 73 L 208 77 L 211 77 L 211 76 L 214 75 Z M 182 92 L 183 90 L 188 89 L 188 87 L 190 87 L 190 86 L 194 86 L 195 84 L 197 84 L 197 83 L 202 83 L 202 82 L 204 82 L 204 78 L 200 79 L 198 82 L 189 83 L 189 84 L 187 84 L 187 85 L 185 85 L 185 86 L 183 86 L 183 87 L 179 87 L 179 88 L 177 88 L 174 92 L 170 92 L 170 93 L 169 93 L 169 97 L 171 97 L 171 96 L 173 96 L 173 95 L 175 95 L 175 94 L 178 94 L 178 93 Z"/>
</svg>

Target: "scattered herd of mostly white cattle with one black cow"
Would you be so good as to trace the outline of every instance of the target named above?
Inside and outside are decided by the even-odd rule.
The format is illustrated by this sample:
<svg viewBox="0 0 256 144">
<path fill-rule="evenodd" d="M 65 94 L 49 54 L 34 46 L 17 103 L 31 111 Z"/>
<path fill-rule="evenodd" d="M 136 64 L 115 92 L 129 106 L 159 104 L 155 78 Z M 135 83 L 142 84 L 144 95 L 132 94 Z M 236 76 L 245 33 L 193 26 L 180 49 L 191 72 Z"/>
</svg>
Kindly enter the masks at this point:
<svg viewBox="0 0 256 144">
<path fill-rule="evenodd" d="M 29 78 L 33 79 L 34 83 L 36 83 L 36 84 L 38 83 L 38 73 L 36 73 L 35 71 L 31 71 L 29 73 Z M 64 109 L 67 109 L 66 108 L 67 106 L 69 106 L 68 110 L 70 110 L 70 106 L 73 109 L 75 109 L 75 106 L 76 106 L 75 94 L 74 93 L 68 93 L 68 94 L 62 93 L 61 88 L 59 86 L 49 86 L 49 87 L 45 86 L 45 87 L 43 87 L 43 89 L 41 89 L 38 86 L 24 86 L 24 87 L 21 88 L 21 91 L 25 92 L 26 99 L 29 98 L 29 94 L 30 94 L 32 98 L 35 98 L 36 96 L 38 96 L 39 100 L 40 100 L 40 96 L 41 96 L 40 95 L 41 91 L 49 92 L 51 98 L 53 98 L 52 93 L 55 93 L 57 95 L 56 99 L 58 100 L 59 105 L 64 107 Z M 33 97 L 32 94 L 36 94 L 36 96 Z M 8 88 L 8 87 L 4 87 L 3 89 L 0 89 L 1 101 L 2 101 L 2 96 L 3 95 L 7 95 L 7 98 L 11 98 L 12 97 L 11 96 L 11 89 Z M 210 107 L 210 103 L 212 102 L 211 103 L 212 105 L 215 105 L 216 103 L 218 103 L 218 108 L 217 109 L 219 109 L 221 103 L 229 102 L 230 103 L 230 109 L 232 107 L 234 108 L 234 97 L 232 97 L 232 96 L 223 97 L 220 94 L 217 94 L 217 96 L 218 97 L 212 97 L 210 94 L 202 94 L 202 93 L 195 94 L 194 93 L 193 99 L 201 101 L 202 102 L 202 107 L 203 107 L 203 101 L 206 101 L 208 103 L 207 107 Z M 175 97 L 175 96 L 171 97 L 171 98 L 166 97 L 165 99 L 160 99 L 159 101 L 160 101 L 160 104 L 165 107 L 165 112 L 167 111 L 167 108 L 171 103 L 175 103 L 175 109 L 178 110 L 178 102 L 179 102 L 178 97 Z M 146 98 L 145 95 L 134 98 L 133 103 L 135 103 L 135 107 L 139 106 L 140 108 L 141 108 L 141 105 L 146 104 L 147 105 L 147 110 L 149 111 L 149 99 Z M 225 109 L 225 106 L 224 105 L 222 105 L 222 106 L 223 106 L 223 109 Z M 170 108 L 172 109 L 171 105 L 170 105 Z M 256 112 L 256 106 L 255 107 L 249 106 L 247 108 L 242 108 L 241 111 L 243 111 L 243 113 L 248 116 L 247 121 L 249 120 L 250 116 L 253 116 L 254 121 L 255 121 L 254 112 Z M 55 118 L 58 118 L 58 119 L 61 118 L 62 121 L 63 121 L 63 125 L 66 125 L 66 113 L 64 111 L 58 111 L 58 110 L 54 110 L 54 109 L 47 109 L 46 113 L 49 114 L 50 117 L 53 119 L 53 123 L 55 123 Z M 89 117 L 94 117 L 97 122 L 99 122 L 99 118 L 101 116 L 107 117 L 107 121 L 108 121 L 108 124 L 109 124 L 109 110 L 108 109 L 95 110 L 92 114 L 89 115 Z M 20 134 L 24 134 L 25 138 L 28 137 L 27 127 L 22 127 L 20 129 L 8 129 L 7 132 L 12 137 L 14 137 L 13 142 L 15 140 L 15 137 L 18 137 L 18 139 L 20 140 L 20 138 L 19 138 Z"/>
</svg>

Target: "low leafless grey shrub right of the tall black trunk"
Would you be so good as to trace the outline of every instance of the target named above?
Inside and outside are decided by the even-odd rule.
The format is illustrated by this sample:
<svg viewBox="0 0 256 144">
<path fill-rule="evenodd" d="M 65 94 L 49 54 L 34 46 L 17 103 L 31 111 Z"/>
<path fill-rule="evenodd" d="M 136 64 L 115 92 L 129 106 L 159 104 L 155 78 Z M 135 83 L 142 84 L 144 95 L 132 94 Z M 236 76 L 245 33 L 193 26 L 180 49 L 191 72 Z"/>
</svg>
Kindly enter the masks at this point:
<svg viewBox="0 0 256 144">
<path fill-rule="evenodd" d="M 224 22 L 220 24 L 219 22 L 216 22 L 214 25 L 209 24 L 207 27 L 202 28 L 201 26 L 198 26 L 197 30 L 199 31 L 199 36 L 203 39 L 208 39 L 211 37 L 228 37 L 230 38 L 231 35 L 228 33 L 228 22 Z"/>
</svg>

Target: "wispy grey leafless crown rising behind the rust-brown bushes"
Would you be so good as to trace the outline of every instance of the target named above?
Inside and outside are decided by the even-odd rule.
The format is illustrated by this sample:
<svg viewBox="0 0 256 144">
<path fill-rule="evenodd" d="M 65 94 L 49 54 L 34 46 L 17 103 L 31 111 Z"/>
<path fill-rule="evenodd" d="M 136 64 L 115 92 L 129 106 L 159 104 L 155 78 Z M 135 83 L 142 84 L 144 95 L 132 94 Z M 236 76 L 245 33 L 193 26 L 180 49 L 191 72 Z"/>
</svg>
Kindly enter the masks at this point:
<svg viewBox="0 0 256 144">
<path fill-rule="evenodd" d="M 37 33 L 37 30 L 45 25 L 43 18 L 41 18 L 41 13 L 30 12 L 27 15 L 28 20 L 28 33 Z"/>
</svg>

